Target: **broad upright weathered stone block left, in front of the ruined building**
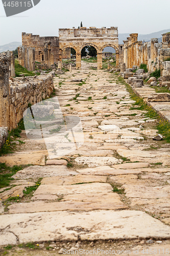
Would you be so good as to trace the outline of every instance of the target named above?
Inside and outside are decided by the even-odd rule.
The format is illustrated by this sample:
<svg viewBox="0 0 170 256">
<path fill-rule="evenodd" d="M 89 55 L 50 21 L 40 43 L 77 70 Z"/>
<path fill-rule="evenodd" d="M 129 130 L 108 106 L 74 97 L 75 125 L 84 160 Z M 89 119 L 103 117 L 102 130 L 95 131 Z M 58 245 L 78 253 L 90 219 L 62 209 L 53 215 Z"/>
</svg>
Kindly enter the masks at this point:
<svg viewBox="0 0 170 256">
<path fill-rule="evenodd" d="M 29 71 L 35 70 L 35 48 L 19 46 L 18 47 L 19 65 Z"/>
</svg>

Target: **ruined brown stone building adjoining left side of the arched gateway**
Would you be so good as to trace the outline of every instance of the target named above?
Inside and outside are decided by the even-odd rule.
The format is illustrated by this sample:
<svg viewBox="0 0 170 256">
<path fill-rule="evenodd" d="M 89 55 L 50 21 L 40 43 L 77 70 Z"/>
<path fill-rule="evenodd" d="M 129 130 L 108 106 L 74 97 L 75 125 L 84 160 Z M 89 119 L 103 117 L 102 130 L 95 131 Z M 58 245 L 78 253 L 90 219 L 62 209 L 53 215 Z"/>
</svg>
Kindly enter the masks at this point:
<svg viewBox="0 0 170 256">
<path fill-rule="evenodd" d="M 44 42 L 51 42 L 51 65 L 58 63 L 59 60 L 59 37 L 57 36 L 42 36 L 22 33 L 22 46 L 35 48 L 35 60 L 41 62 L 41 53 L 44 51 Z"/>
</svg>

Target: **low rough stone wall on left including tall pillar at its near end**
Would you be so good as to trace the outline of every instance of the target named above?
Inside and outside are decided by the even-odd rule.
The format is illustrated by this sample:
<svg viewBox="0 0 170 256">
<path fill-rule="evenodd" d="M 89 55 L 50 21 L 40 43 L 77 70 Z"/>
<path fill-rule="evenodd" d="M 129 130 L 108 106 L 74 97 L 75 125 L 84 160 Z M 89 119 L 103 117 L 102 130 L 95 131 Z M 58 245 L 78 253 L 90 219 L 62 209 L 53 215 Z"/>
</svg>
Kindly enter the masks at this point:
<svg viewBox="0 0 170 256">
<path fill-rule="evenodd" d="M 34 77 L 17 77 L 9 80 L 9 61 L 0 54 L 0 126 L 12 130 L 23 118 L 28 104 L 49 97 L 54 90 L 54 72 Z"/>
</svg>

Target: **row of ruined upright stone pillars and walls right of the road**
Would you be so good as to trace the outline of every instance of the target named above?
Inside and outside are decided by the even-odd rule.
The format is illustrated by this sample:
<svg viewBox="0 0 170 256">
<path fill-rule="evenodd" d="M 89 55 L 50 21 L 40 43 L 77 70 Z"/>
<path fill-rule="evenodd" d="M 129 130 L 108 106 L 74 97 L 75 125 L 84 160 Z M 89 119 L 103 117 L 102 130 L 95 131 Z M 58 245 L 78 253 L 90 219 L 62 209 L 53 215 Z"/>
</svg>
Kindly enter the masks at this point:
<svg viewBox="0 0 170 256">
<path fill-rule="evenodd" d="M 126 68 L 144 63 L 150 73 L 160 69 L 161 76 L 170 75 L 170 61 L 166 61 L 170 57 L 170 34 L 162 36 L 162 42 L 158 42 L 158 38 L 152 38 L 150 42 L 143 43 L 137 40 L 137 33 L 130 34 L 123 46 Z"/>
</svg>

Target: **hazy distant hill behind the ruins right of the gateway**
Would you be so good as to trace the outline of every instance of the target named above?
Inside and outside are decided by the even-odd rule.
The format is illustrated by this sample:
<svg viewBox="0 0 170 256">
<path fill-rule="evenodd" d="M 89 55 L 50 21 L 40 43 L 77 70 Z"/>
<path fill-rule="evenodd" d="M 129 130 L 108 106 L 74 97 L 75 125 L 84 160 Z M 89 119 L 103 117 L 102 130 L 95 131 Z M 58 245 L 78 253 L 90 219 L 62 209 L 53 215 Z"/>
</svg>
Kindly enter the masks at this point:
<svg viewBox="0 0 170 256">
<path fill-rule="evenodd" d="M 162 34 L 170 32 L 170 29 L 165 29 L 165 30 L 161 30 L 158 32 L 154 32 L 151 34 L 146 34 L 146 35 L 138 35 L 138 41 L 150 41 L 151 38 L 158 38 L 158 41 L 161 42 L 162 41 Z M 134 32 L 135 33 L 135 32 Z M 127 37 L 129 37 L 129 34 L 131 33 L 126 33 L 126 34 L 118 34 L 118 44 L 124 44 L 123 40 L 126 40 Z"/>
</svg>

